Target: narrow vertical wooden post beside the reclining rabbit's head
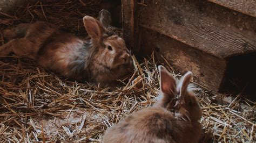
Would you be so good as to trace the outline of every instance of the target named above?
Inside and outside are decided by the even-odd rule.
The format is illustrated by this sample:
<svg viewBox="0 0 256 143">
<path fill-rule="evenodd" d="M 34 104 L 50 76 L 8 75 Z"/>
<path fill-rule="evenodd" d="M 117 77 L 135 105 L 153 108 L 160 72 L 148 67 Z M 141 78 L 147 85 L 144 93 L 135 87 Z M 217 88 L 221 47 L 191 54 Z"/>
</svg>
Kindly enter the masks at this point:
<svg viewBox="0 0 256 143">
<path fill-rule="evenodd" d="M 137 3 L 138 0 L 122 0 L 123 38 L 127 48 L 134 51 L 137 40 Z"/>
</svg>

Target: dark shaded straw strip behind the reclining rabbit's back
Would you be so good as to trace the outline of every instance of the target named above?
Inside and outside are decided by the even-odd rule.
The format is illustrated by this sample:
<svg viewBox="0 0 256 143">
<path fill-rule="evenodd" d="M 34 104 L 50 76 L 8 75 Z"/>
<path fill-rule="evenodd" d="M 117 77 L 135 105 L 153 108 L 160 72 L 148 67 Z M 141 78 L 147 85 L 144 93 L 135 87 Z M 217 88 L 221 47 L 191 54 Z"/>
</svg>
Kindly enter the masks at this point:
<svg viewBox="0 0 256 143">
<path fill-rule="evenodd" d="M 0 12 L 0 30 L 19 23 L 33 23 L 41 20 L 58 25 L 64 31 L 85 36 L 86 31 L 82 18 L 85 15 L 97 17 L 100 7 L 102 7 L 99 4 L 100 0 L 88 0 L 86 4 L 84 1 L 78 0 L 63 0 L 55 3 L 38 1 L 35 4 L 23 5 L 10 13 Z"/>
</svg>

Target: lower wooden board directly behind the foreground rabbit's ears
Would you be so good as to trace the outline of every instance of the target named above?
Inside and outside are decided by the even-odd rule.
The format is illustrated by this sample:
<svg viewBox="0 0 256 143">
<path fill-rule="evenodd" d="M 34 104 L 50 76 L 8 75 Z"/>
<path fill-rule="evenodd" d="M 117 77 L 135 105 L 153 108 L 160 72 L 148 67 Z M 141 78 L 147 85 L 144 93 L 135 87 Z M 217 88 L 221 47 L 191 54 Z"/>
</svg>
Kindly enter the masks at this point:
<svg viewBox="0 0 256 143">
<path fill-rule="evenodd" d="M 194 81 L 218 91 L 226 69 L 226 60 L 217 58 L 163 34 L 143 28 L 142 56 L 154 51 L 157 60 L 163 55 L 181 73 L 191 70 Z M 163 59 L 161 59 L 163 60 Z"/>
</svg>

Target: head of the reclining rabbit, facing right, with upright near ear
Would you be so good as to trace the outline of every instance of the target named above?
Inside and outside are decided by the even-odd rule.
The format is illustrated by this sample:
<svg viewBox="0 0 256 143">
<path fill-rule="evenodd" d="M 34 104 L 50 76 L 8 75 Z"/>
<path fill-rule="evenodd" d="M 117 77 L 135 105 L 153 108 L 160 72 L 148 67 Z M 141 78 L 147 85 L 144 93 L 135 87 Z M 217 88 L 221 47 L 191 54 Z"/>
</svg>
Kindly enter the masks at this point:
<svg viewBox="0 0 256 143">
<path fill-rule="evenodd" d="M 93 17 L 85 16 L 83 22 L 87 33 L 91 37 L 91 47 L 96 62 L 110 70 L 131 67 L 131 54 L 122 38 L 118 35 L 108 34 L 106 27 Z M 109 24 L 105 24 L 105 26 L 109 26 Z"/>
</svg>

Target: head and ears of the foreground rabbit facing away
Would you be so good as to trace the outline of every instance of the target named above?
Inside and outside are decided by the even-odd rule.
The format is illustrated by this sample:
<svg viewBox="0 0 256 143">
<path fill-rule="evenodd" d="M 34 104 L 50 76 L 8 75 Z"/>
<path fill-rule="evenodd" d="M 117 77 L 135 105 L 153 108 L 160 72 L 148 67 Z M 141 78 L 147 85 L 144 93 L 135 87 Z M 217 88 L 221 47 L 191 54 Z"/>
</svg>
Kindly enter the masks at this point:
<svg viewBox="0 0 256 143">
<path fill-rule="evenodd" d="M 190 121 L 199 120 L 202 111 L 190 84 L 191 71 L 188 71 L 178 81 L 165 67 L 158 66 L 158 69 L 161 94 L 157 104 L 173 112 L 176 118 Z"/>
</svg>

